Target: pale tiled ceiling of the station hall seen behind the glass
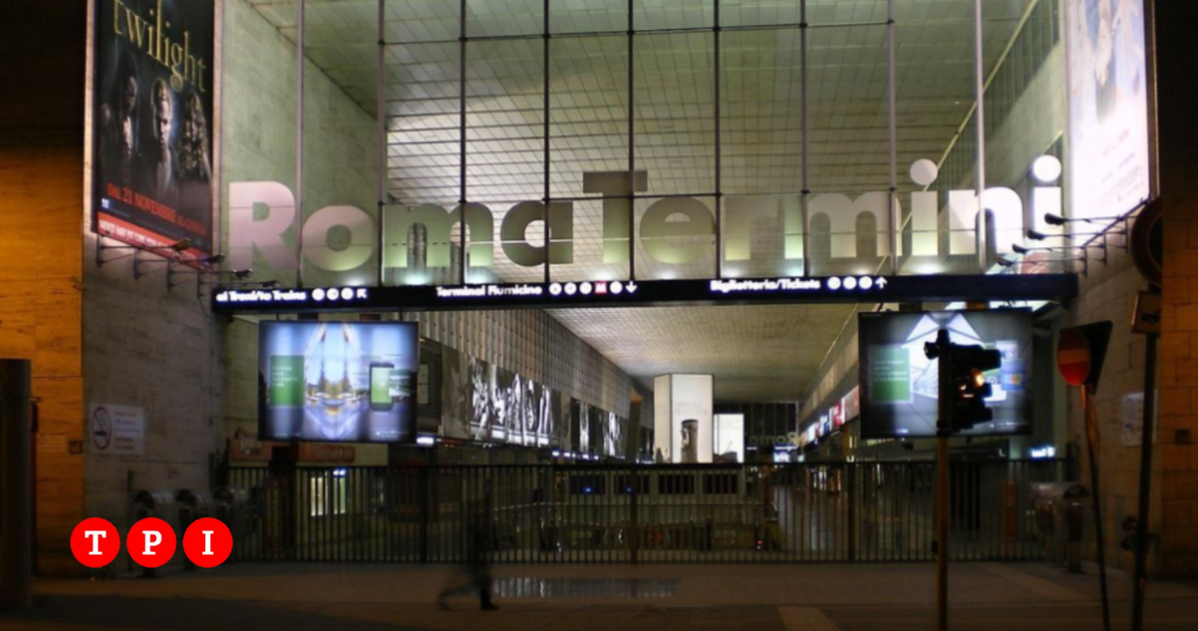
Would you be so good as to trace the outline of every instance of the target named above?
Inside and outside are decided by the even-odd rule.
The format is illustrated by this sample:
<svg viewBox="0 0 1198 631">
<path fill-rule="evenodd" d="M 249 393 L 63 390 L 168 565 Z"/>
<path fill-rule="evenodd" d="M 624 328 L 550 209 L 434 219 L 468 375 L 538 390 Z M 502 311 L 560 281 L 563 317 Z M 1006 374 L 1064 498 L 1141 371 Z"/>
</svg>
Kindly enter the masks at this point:
<svg viewBox="0 0 1198 631">
<path fill-rule="evenodd" d="M 295 0 L 249 0 L 295 41 Z M 984 57 L 993 67 L 1036 0 L 985 0 Z M 809 0 L 809 176 L 812 192 L 889 187 L 885 0 Z M 973 96 L 973 2 L 897 0 L 897 177 L 939 159 Z M 385 101 L 388 190 L 399 204 L 450 206 L 460 196 L 458 0 L 388 0 Z M 582 190 L 586 171 L 629 164 L 627 0 L 550 0 L 549 193 L 574 198 L 574 266 L 600 269 L 601 205 Z M 633 132 L 647 194 L 712 193 L 715 182 L 715 51 L 712 0 L 635 2 Z M 800 22 L 797 0 L 721 0 L 719 140 L 726 195 L 795 194 L 803 188 Z M 376 0 L 307 0 L 307 56 L 375 115 Z M 545 195 L 541 0 L 467 0 L 467 199 L 496 225 L 518 201 Z M 737 30 L 744 28 L 745 30 Z M 594 34 L 607 35 L 594 35 Z M 573 35 L 571 35 L 573 34 Z M 589 35 L 583 35 L 589 34 Z M 530 37 L 525 37 L 530 36 Z M 713 198 L 702 198 L 709 207 Z M 648 201 L 639 201 L 639 213 Z M 776 231 L 762 222 L 757 232 Z M 498 233 L 498 230 L 496 230 Z M 768 239 L 767 239 L 768 241 Z M 643 254 L 643 249 L 639 250 Z M 642 265 L 640 261 L 645 261 Z M 639 278 L 706 278 L 706 257 L 680 266 L 637 259 Z M 504 280 L 540 280 L 496 256 Z M 627 266 L 624 266 L 627 268 Z M 619 268 L 605 268 L 616 274 Z M 627 273 L 627 271 L 624 272 Z M 774 271 L 774 273 L 778 273 Z M 561 274 L 561 275 L 558 275 Z M 721 400 L 795 400 L 851 308 L 728 307 L 555 311 L 552 315 L 637 378 L 713 372 Z"/>
</svg>

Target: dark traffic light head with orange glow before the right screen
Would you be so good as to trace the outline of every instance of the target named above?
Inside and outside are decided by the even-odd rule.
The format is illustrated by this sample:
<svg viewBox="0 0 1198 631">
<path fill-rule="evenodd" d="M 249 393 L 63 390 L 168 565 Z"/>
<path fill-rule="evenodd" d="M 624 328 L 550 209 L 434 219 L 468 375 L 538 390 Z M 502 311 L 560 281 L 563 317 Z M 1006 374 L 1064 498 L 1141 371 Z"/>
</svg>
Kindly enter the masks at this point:
<svg viewBox="0 0 1198 631">
<path fill-rule="evenodd" d="M 993 420 L 994 412 L 986 407 L 991 395 L 986 371 L 1003 365 L 1003 354 L 978 345 L 961 345 L 949 341 L 949 332 L 940 329 L 934 342 L 924 345 L 928 359 L 939 359 L 940 396 L 948 396 L 940 419 L 940 429 L 950 433 L 968 430 L 979 423 Z"/>
</svg>

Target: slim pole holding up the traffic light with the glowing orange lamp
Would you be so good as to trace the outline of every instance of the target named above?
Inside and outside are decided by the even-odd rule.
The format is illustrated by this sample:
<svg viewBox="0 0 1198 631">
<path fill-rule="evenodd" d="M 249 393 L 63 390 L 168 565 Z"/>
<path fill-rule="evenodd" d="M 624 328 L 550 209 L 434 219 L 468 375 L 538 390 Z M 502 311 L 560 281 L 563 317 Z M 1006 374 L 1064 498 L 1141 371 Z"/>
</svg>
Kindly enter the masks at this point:
<svg viewBox="0 0 1198 631">
<path fill-rule="evenodd" d="M 949 631 L 949 432 L 951 432 L 952 350 L 949 332 L 936 338 L 939 390 L 936 424 L 936 627 Z"/>
</svg>

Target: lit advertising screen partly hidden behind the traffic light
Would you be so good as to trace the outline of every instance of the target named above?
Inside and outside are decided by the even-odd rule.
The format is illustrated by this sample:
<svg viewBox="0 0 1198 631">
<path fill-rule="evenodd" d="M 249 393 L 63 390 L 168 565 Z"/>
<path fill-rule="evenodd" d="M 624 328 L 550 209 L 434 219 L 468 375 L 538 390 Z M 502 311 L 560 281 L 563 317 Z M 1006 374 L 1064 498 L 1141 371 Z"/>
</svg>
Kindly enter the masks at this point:
<svg viewBox="0 0 1198 631">
<path fill-rule="evenodd" d="M 939 360 L 924 344 L 940 329 L 960 345 L 998 350 L 1002 366 L 985 372 L 993 420 L 964 436 L 1031 432 L 1031 313 L 1028 310 L 873 313 L 859 315 L 863 438 L 936 436 Z"/>
</svg>

